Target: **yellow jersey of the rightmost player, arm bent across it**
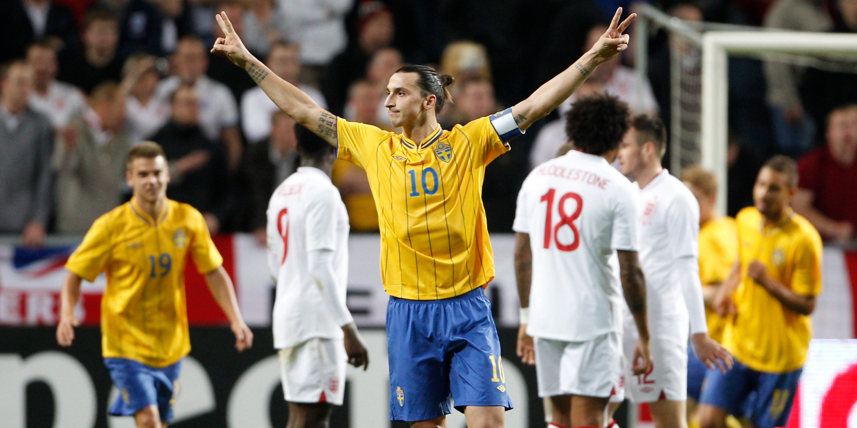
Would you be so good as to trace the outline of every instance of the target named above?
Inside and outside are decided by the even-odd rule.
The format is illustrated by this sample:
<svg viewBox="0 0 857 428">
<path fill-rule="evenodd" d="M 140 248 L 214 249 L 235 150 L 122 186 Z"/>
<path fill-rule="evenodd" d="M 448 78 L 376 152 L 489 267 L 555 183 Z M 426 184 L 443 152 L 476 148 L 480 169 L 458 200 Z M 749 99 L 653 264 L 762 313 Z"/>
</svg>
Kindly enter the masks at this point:
<svg viewBox="0 0 857 428">
<path fill-rule="evenodd" d="M 737 314 L 723 333 L 723 345 L 737 360 L 759 372 L 791 372 L 806 362 L 812 320 L 782 306 L 779 300 L 746 276 L 752 260 L 768 275 L 797 294 L 821 293 L 822 244 L 806 218 L 792 213 L 782 223 L 764 227 L 753 207 L 735 217 L 738 223 L 741 279 L 733 294 Z"/>
</svg>

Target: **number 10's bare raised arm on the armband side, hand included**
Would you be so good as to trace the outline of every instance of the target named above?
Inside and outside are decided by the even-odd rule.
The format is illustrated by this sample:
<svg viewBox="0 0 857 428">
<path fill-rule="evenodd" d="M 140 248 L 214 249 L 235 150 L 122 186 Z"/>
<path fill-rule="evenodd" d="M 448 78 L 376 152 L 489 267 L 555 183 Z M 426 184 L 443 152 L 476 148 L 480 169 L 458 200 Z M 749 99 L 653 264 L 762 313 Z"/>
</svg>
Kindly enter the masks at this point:
<svg viewBox="0 0 857 428">
<path fill-rule="evenodd" d="M 512 116 L 518 123 L 518 128 L 523 131 L 530 128 L 533 122 L 548 116 L 563 101 L 571 97 L 580 85 L 583 85 L 586 78 L 598 67 L 598 64 L 613 59 L 621 51 L 628 48 L 629 36 L 622 34 L 622 32 L 631 25 L 631 21 L 634 21 L 637 14 L 631 14 L 620 23 L 621 15 L 622 8 L 616 9 L 616 15 L 613 16 L 610 27 L 589 51 L 584 53 L 571 67 L 566 68 L 565 71 L 539 86 L 530 97 L 512 107 Z"/>
</svg>

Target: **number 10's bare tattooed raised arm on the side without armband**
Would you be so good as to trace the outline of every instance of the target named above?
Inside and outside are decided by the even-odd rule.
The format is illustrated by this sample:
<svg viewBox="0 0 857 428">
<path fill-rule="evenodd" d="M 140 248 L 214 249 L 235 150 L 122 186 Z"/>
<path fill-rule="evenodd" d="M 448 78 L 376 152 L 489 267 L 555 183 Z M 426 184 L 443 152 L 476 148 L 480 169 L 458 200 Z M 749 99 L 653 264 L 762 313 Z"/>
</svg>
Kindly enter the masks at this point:
<svg viewBox="0 0 857 428">
<path fill-rule="evenodd" d="M 214 42 L 212 53 L 225 53 L 231 62 L 247 71 L 280 110 L 331 145 L 337 146 L 337 117 L 315 104 L 305 92 L 273 74 L 270 68 L 253 56 L 238 37 L 225 12 L 220 12 L 216 19 L 224 37 Z"/>
</svg>

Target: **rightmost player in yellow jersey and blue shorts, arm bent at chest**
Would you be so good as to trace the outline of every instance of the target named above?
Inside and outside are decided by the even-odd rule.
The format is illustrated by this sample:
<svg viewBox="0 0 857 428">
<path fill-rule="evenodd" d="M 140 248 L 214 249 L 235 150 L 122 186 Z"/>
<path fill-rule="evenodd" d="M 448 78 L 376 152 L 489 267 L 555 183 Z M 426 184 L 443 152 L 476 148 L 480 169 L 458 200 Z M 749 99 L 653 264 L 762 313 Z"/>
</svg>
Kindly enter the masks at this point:
<svg viewBox="0 0 857 428">
<path fill-rule="evenodd" d="M 797 180 L 794 160 L 771 158 L 753 187 L 755 206 L 735 217 L 739 261 L 716 305 L 729 313 L 723 345 L 735 366 L 706 375 L 703 426 L 722 426 L 727 414 L 759 428 L 788 420 L 812 339 L 810 314 L 821 293 L 821 237 L 789 206 Z"/>
</svg>

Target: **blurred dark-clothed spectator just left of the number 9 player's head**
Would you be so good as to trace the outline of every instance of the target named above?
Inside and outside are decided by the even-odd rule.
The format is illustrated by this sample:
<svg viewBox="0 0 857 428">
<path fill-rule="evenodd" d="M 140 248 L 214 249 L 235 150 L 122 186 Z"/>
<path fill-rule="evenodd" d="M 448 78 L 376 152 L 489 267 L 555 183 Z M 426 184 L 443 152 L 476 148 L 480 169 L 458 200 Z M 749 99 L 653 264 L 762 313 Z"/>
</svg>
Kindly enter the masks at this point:
<svg viewBox="0 0 857 428">
<path fill-rule="evenodd" d="M 297 170 L 296 122 L 283 111 L 271 115 L 271 134 L 247 148 L 243 159 L 244 174 L 249 179 L 249 228 L 260 245 L 265 245 L 268 200 L 274 189 Z M 300 125 L 297 125 L 300 126 Z"/>
</svg>

